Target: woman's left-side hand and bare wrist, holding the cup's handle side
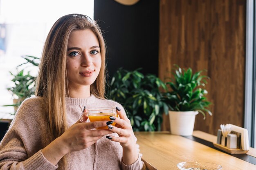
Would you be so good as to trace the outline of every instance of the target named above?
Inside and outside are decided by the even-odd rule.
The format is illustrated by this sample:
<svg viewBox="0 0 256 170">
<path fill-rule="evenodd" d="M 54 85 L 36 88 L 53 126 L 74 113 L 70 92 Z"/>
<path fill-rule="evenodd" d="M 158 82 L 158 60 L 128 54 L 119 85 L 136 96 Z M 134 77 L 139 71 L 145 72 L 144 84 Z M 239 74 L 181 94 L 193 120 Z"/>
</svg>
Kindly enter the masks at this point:
<svg viewBox="0 0 256 170">
<path fill-rule="evenodd" d="M 84 118 L 87 119 L 88 117 L 86 118 L 85 116 Z M 79 120 L 70 126 L 60 137 L 57 137 L 53 142 L 43 148 L 42 153 L 48 161 L 56 165 L 67 153 L 88 148 L 104 135 L 112 133 L 108 129 L 91 130 L 106 126 L 107 122 L 81 123 Z"/>
</svg>

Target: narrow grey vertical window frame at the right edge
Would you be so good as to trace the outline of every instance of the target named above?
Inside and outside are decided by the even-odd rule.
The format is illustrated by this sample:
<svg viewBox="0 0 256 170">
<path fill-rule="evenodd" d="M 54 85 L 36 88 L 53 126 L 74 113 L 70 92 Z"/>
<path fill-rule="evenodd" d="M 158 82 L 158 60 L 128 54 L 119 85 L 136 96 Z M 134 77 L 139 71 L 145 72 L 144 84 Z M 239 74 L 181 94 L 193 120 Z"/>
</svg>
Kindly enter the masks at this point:
<svg viewBox="0 0 256 170">
<path fill-rule="evenodd" d="M 244 126 L 249 133 L 251 147 L 256 146 L 255 96 L 256 96 L 256 54 L 255 54 L 255 2 L 247 0 L 246 15 L 246 61 L 245 61 L 245 119 Z"/>
</svg>

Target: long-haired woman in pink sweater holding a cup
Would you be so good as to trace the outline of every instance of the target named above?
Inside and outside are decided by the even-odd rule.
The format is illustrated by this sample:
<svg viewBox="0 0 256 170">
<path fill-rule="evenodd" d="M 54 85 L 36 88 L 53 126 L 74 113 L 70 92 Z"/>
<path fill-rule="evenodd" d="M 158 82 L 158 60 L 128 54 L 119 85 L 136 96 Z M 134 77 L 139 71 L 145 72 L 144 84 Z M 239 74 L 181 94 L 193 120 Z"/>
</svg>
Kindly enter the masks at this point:
<svg viewBox="0 0 256 170">
<path fill-rule="evenodd" d="M 22 103 L 0 144 L 1 169 L 142 168 L 123 107 L 104 99 L 105 52 L 90 17 L 70 14 L 56 21 L 43 49 L 36 97 Z M 85 106 L 115 106 L 119 117 L 80 122 Z"/>
</svg>

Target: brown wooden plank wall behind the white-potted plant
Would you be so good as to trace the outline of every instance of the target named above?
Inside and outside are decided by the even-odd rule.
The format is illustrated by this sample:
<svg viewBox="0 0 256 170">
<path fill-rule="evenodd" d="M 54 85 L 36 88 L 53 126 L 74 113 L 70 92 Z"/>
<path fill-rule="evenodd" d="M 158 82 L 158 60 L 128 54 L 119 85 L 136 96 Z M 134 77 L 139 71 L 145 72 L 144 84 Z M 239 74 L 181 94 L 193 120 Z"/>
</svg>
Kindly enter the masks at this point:
<svg viewBox="0 0 256 170">
<path fill-rule="evenodd" d="M 173 64 L 207 69 L 213 116 L 199 114 L 195 130 L 215 134 L 220 124 L 243 126 L 246 0 L 160 0 L 159 77 Z M 162 130 L 169 130 L 164 116 Z"/>
</svg>

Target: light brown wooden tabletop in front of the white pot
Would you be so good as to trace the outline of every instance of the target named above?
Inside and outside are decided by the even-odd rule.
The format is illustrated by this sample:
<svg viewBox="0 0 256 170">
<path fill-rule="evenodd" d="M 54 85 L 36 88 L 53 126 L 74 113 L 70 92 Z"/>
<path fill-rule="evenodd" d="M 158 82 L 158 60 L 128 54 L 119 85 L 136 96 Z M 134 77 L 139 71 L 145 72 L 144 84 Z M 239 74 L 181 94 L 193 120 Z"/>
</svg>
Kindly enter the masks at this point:
<svg viewBox="0 0 256 170">
<path fill-rule="evenodd" d="M 193 133 L 193 136 L 208 141 L 216 139 L 214 135 L 207 135 L 200 131 Z M 148 170 L 178 170 L 177 163 L 184 161 L 216 163 L 223 170 L 256 169 L 252 163 L 170 132 L 135 132 L 135 136 Z"/>
</svg>

